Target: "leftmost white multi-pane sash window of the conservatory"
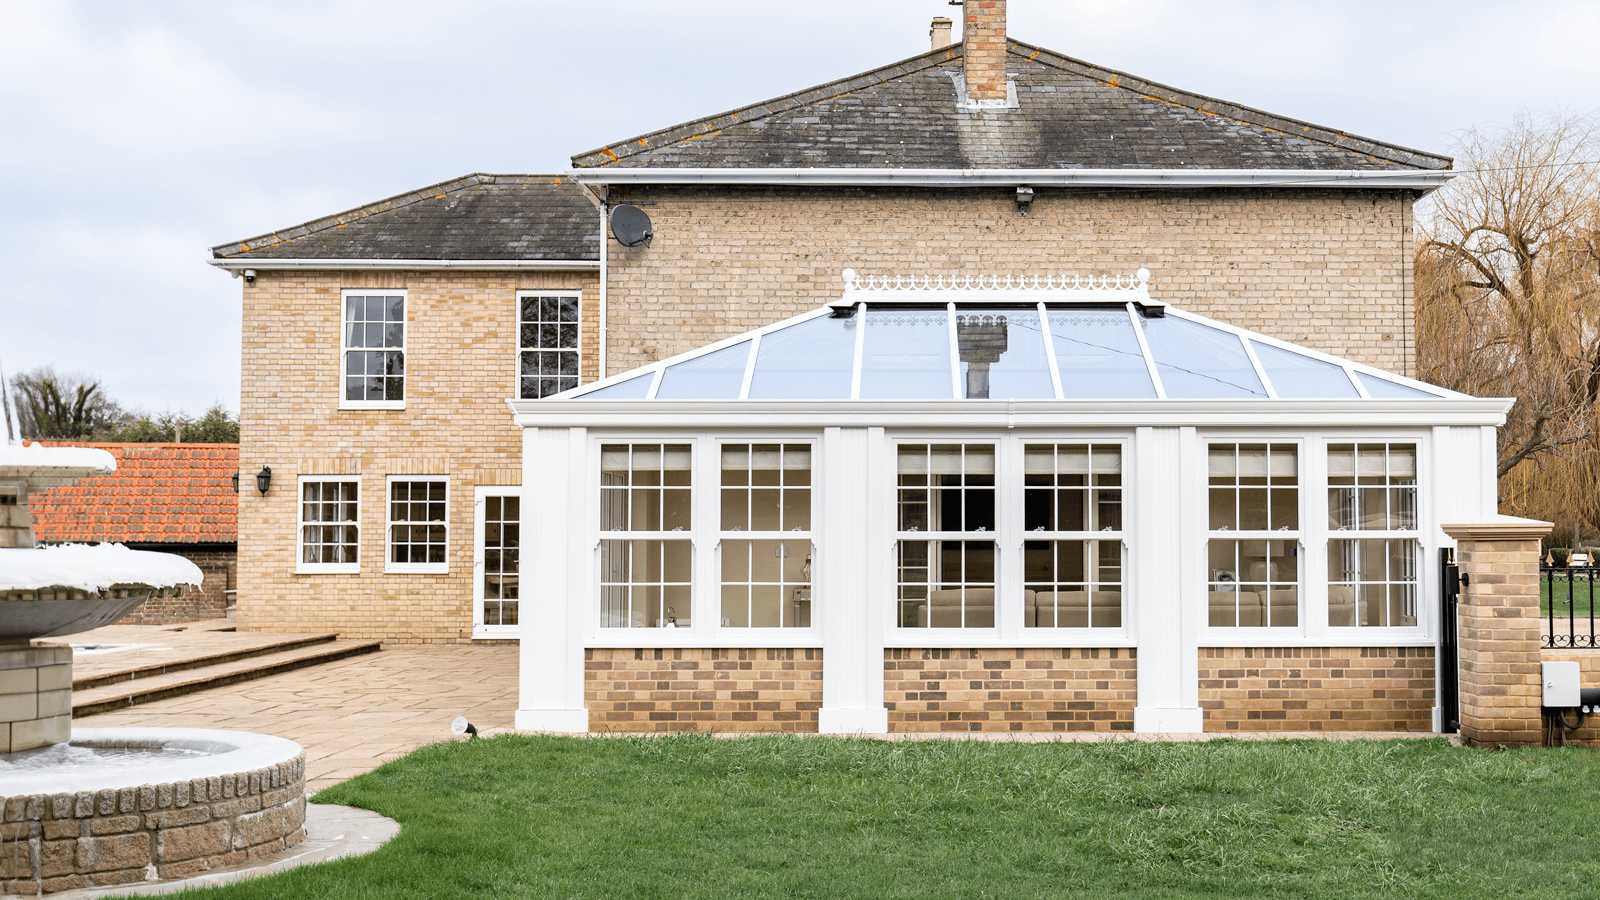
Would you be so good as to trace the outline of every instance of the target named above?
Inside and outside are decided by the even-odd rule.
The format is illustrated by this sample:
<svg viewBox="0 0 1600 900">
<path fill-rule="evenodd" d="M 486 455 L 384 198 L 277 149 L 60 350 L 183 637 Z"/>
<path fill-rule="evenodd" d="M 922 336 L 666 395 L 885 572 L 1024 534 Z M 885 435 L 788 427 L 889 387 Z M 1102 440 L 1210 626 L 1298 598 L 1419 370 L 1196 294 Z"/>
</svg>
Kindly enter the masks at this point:
<svg viewBox="0 0 1600 900">
<path fill-rule="evenodd" d="M 690 460 L 688 444 L 600 447 L 603 626 L 690 623 Z"/>
</svg>

